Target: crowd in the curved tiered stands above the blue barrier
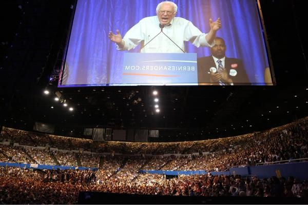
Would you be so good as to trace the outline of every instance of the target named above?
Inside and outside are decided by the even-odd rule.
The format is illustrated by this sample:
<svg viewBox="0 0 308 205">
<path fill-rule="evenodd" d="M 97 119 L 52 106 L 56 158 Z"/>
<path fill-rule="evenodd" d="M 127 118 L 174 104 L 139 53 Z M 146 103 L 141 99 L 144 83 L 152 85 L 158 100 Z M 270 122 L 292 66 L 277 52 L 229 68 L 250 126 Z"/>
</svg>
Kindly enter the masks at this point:
<svg viewBox="0 0 308 205">
<path fill-rule="evenodd" d="M 48 138 L 49 135 L 43 134 L 42 140 L 38 140 L 36 133 L 4 128 L 2 139 L 10 144 L 0 144 L 0 159 L 4 162 L 99 168 L 102 157 L 112 158 L 116 154 L 120 156 L 118 163 L 126 155 L 133 155 L 130 158 L 139 163 L 137 157 L 143 156 L 148 161 L 144 167 L 149 170 L 226 171 L 231 167 L 308 158 L 307 133 L 307 119 L 242 136 L 165 143 L 93 142 L 71 137 L 56 138 L 54 135 Z M 41 146 L 33 146 L 36 140 Z M 43 141 L 45 147 L 42 147 Z M 83 144 L 87 145 L 86 148 L 92 145 L 90 151 Z"/>
</svg>

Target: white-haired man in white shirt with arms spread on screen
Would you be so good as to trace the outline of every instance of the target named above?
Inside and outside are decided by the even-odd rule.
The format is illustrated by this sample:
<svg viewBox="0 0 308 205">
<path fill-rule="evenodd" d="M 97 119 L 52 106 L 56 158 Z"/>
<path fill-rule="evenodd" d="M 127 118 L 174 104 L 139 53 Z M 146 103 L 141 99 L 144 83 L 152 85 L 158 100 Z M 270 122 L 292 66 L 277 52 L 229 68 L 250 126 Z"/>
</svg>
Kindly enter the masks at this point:
<svg viewBox="0 0 308 205">
<path fill-rule="evenodd" d="M 161 2 L 156 8 L 157 16 L 150 16 L 140 20 L 122 38 L 120 31 L 117 34 L 109 32 L 108 37 L 117 44 L 118 50 L 130 50 L 140 43 L 141 53 L 183 53 L 184 41 L 189 41 L 196 47 L 213 46 L 216 32 L 221 28 L 221 20 L 216 22 L 209 19 L 210 31 L 205 34 L 195 27 L 189 20 L 175 17 L 178 6 L 173 2 Z M 170 39 L 175 43 L 172 43 Z M 158 36 L 156 36 L 159 34 Z M 156 36 L 156 37 L 155 37 Z M 149 42 L 152 40 L 151 42 Z M 146 45 L 149 43 L 148 45 Z M 181 48 L 178 48 L 178 46 Z"/>
</svg>

